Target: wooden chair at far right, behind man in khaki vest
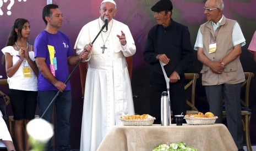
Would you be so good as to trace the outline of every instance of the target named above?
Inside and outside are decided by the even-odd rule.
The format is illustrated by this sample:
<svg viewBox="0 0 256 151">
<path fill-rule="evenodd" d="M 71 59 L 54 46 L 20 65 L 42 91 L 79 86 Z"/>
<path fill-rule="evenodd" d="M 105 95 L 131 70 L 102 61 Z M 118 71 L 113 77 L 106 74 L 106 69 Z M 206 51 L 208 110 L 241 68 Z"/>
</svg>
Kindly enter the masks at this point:
<svg viewBox="0 0 256 151">
<path fill-rule="evenodd" d="M 245 132 L 246 136 L 246 146 L 248 151 L 252 151 L 252 145 L 250 144 L 250 115 L 252 115 L 252 112 L 249 109 L 249 89 L 250 89 L 250 82 L 252 78 L 254 77 L 254 73 L 252 72 L 244 72 L 244 76 L 246 77 L 246 80 L 242 83 L 242 89 L 241 92 L 244 91 L 244 95 L 241 94 L 241 97 L 244 96 L 243 99 L 241 99 L 241 115 L 242 115 L 242 123 L 243 123 L 243 131 Z M 223 117 L 226 117 L 226 112 L 222 112 Z"/>
</svg>

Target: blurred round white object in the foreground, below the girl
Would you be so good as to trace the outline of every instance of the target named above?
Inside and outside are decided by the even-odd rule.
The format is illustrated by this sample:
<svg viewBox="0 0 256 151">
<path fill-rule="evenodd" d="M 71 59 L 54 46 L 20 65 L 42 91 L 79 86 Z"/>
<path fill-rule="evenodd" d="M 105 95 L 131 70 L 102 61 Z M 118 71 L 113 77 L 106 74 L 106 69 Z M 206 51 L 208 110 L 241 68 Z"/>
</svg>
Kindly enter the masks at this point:
<svg viewBox="0 0 256 151">
<path fill-rule="evenodd" d="M 53 136 L 53 125 L 44 119 L 37 118 L 28 123 L 26 131 L 30 137 L 37 141 L 46 143 Z"/>
</svg>

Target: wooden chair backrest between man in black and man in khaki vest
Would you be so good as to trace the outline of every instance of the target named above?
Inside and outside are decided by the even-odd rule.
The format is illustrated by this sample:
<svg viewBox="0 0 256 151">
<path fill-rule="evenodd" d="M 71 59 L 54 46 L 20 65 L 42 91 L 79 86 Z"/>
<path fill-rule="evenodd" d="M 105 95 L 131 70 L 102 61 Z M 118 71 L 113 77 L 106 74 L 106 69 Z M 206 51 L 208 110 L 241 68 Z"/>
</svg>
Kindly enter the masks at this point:
<svg viewBox="0 0 256 151">
<path fill-rule="evenodd" d="M 187 98 L 187 104 L 193 111 L 198 111 L 195 107 L 195 85 L 197 84 L 197 79 L 199 78 L 198 73 L 185 73 L 186 82 L 185 90 L 191 88 L 191 97 L 190 101 Z"/>
</svg>

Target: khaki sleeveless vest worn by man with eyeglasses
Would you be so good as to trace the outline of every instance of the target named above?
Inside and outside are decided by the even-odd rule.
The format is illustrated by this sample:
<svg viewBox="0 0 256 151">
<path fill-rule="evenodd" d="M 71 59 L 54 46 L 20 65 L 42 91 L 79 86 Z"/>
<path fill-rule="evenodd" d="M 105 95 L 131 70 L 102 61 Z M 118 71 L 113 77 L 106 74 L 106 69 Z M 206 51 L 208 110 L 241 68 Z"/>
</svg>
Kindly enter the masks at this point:
<svg viewBox="0 0 256 151">
<path fill-rule="evenodd" d="M 211 21 L 200 26 L 200 31 L 203 34 L 204 54 L 208 59 L 215 62 L 220 61 L 233 50 L 232 32 L 236 22 L 223 16 L 220 26 L 215 32 Z M 214 42 L 217 44 L 217 49 L 215 53 L 209 53 L 209 44 Z M 236 84 L 245 80 L 239 57 L 228 63 L 221 74 L 213 73 L 210 67 L 206 65 L 203 65 L 200 73 L 202 74 L 203 85 Z"/>
</svg>

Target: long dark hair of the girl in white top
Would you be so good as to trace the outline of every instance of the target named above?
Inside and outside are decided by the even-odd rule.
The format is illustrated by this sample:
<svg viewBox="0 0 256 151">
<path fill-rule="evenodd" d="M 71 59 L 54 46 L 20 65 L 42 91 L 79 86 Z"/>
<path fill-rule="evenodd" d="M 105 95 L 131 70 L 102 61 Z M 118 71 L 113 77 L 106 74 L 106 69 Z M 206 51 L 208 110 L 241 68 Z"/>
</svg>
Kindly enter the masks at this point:
<svg viewBox="0 0 256 151">
<path fill-rule="evenodd" d="M 7 40 L 6 46 L 14 45 L 15 42 L 17 42 L 17 40 L 22 37 L 21 30 L 22 30 L 22 28 L 23 28 L 23 26 L 24 26 L 24 24 L 26 22 L 29 22 L 29 21 L 26 20 L 26 19 L 23 19 L 23 18 L 18 18 L 18 19 L 16 19 L 14 21 L 12 30 L 10 31 L 10 34 L 8 36 L 8 40 Z M 15 31 L 15 28 L 18 29 L 17 32 Z M 3 55 L 3 57 L 2 57 L 2 65 L 5 65 L 5 64 L 6 64 L 6 60 L 5 60 L 5 57 Z"/>
</svg>

